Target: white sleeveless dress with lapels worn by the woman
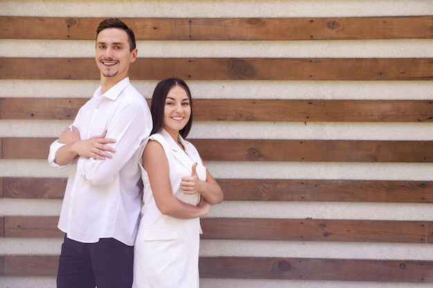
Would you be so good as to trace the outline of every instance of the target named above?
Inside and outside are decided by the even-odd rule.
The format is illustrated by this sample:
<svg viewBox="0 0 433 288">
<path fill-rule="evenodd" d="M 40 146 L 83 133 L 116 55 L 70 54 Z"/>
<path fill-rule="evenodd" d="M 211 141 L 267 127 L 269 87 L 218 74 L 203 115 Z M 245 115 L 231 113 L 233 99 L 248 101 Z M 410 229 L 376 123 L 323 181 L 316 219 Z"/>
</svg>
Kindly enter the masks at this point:
<svg viewBox="0 0 433 288">
<path fill-rule="evenodd" d="M 197 175 L 205 180 L 206 169 L 196 148 L 181 139 L 183 151 L 164 130 L 149 139 L 158 141 L 164 148 L 169 180 L 176 198 L 188 204 L 198 204 L 200 195 L 186 195 L 180 185 L 181 177 L 191 175 L 194 163 L 197 163 Z M 149 177 L 142 166 L 141 171 L 144 205 L 134 249 L 133 288 L 198 288 L 200 219 L 184 220 L 160 213 Z"/>
</svg>

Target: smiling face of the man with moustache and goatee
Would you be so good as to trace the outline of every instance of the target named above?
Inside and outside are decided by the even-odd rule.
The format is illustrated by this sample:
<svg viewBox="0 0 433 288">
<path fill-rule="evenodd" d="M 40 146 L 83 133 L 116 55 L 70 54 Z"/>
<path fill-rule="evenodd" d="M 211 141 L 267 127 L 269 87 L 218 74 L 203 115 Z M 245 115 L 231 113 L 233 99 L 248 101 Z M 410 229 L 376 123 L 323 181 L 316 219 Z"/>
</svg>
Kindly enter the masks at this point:
<svg viewBox="0 0 433 288">
<path fill-rule="evenodd" d="M 107 28 L 96 38 L 95 60 L 101 77 L 120 81 L 128 76 L 129 64 L 137 59 L 137 49 L 130 51 L 128 35 L 122 29 Z"/>
</svg>

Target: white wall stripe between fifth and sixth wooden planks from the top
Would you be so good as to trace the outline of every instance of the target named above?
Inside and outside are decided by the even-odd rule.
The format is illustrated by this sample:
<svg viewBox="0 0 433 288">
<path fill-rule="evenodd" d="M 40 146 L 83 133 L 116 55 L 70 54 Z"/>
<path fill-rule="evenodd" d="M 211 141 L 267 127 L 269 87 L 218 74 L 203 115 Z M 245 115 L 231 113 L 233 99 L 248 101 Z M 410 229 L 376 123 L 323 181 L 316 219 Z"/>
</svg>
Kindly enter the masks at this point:
<svg viewBox="0 0 433 288">
<path fill-rule="evenodd" d="M 223 201 L 203 218 L 433 221 L 430 203 Z M 1 216 L 57 216 L 62 200 L 0 199 Z"/>
</svg>

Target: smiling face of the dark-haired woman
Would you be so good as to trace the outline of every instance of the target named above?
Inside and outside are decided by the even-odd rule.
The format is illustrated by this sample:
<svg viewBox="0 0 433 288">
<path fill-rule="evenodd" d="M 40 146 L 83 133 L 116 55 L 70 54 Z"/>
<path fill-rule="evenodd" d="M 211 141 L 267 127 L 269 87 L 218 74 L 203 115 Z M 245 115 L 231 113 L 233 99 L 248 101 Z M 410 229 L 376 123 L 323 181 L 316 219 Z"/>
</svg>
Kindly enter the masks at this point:
<svg viewBox="0 0 433 288">
<path fill-rule="evenodd" d="M 188 123 L 190 116 L 190 98 L 185 89 L 174 86 L 165 98 L 163 128 L 177 134 Z"/>
</svg>

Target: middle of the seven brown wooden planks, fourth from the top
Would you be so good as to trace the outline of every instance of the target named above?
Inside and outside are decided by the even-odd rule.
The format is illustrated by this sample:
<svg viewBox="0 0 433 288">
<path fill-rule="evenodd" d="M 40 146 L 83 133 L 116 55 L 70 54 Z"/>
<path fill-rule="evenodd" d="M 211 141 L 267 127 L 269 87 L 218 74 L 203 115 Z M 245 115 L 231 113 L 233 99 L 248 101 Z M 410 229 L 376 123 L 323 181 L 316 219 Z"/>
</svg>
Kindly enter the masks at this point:
<svg viewBox="0 0 433 288">
<path fill-rule="evenodd" d="M 53 138 L 2 138 L 3 159 L 46 159 Z M 431 141 L 191 139 L 203 160 L 433 162 Z"/>
</svg>

